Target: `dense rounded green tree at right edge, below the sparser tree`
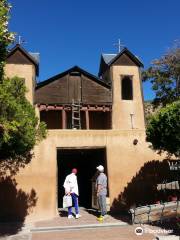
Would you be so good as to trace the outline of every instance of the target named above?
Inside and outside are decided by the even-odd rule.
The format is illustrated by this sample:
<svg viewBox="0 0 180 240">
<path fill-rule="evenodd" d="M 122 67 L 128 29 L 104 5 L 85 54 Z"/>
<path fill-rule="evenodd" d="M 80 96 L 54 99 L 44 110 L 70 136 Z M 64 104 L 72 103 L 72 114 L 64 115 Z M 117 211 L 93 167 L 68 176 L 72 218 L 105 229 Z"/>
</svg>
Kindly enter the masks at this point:
<svg viewBox="0 0 180 240">
<path fill-rule="evenodd" d="M 151 116 L 148 122 L 147 141 L 154 150 L 167 151 L 180 156 L 180 100 L 168 104 Z"/>
</svg>

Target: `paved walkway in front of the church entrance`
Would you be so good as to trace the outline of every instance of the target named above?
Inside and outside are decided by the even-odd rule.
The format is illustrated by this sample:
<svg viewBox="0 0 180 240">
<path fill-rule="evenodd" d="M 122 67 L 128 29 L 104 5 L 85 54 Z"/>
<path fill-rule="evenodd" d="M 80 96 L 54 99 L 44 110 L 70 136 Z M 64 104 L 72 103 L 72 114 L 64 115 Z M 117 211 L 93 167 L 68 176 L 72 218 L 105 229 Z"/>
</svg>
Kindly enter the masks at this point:
<svg viewBox="0 0 180 240">
<path fill-rule="evenodd" d="M 137 235 L 135 229 L 138 225 L 129 225 L 117 217 L 109 216 L 103 222 L 98 222 L 96 212 L 81 209 L 82 217 L 68 219 L 67 212 L 60 211 L 60 216 L 46 221 L 27 225 L 16 235 L 0 236 L 1 240 L 155 240 L 157 227 L 143 225 L 144 233 Z M 160 234 L 161 235 L 161 234 Z M 166 235 L 166 234 L 162 234 Z M 180 240 L 179 237 L 171 238 Z"/>
</svg>

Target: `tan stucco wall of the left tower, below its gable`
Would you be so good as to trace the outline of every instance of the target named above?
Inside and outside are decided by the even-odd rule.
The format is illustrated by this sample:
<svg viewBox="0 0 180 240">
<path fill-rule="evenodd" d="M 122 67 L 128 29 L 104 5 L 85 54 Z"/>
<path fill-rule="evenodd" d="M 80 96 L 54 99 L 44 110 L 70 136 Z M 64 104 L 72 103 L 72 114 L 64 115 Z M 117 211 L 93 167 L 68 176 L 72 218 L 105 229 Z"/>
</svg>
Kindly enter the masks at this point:
<svg viewBox="0 0 180 240">
<path fill-rule="evenodd" d="M 18 76 L 25 79 L 25 85 L 28 90 L 28 92 L 26 93 L 26 97 L 30 101 L 30 103 L 33 104 L 35 87 L 35 67 L 33 65 L 25 64 L 6 64 L 5 74 L 9 78 Z"/>
</svg>

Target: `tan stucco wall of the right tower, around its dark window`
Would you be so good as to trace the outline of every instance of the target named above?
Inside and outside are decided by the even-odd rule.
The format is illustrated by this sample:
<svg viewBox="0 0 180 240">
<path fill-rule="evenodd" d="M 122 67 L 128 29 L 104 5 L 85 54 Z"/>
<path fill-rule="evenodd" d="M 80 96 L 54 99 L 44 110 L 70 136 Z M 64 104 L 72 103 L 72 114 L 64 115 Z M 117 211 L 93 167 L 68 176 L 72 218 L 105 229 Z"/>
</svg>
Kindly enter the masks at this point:
<svg viewBox="0 0 180 240">
<path fill-rule="evenodd" d="M 122 75 L 133 76 L 133 100 L 122 100 Z M 139 68 L 137 66 L 112 66 L 111 79 L 113 84 L 113 129 L 131 129 L 130 114 L 133 114 L 133 127 L 135 129 L 145 129 Z"/>
</svg>

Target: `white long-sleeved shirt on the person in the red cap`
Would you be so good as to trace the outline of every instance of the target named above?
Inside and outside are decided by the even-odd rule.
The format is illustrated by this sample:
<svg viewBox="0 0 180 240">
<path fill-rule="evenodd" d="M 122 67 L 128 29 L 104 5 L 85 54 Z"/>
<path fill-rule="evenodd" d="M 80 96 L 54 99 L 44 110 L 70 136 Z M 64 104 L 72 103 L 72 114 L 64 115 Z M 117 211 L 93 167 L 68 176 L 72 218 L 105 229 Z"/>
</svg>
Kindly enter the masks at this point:
<svg viewBox="0 0 180 240">
<path fill-rule="evenodd" d="M 75 193 L 79 196 L 77 176 L 74 173 L 67 175 L 63 187 L 66 192 Z"/>
</svg>

